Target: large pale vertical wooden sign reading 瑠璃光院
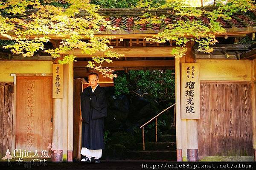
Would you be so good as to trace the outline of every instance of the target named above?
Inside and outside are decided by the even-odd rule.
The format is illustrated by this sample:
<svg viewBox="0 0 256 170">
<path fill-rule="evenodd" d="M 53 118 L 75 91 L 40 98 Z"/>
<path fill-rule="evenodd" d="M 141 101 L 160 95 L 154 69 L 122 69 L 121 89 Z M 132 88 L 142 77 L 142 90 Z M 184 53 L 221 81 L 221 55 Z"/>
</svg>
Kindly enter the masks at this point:
<svg viewBox="0 0 256 170">
<path fill-rule="evenodd" d="M 181 119 L 200 119 L 199 63 L 181 63 Z"/>
</svg>

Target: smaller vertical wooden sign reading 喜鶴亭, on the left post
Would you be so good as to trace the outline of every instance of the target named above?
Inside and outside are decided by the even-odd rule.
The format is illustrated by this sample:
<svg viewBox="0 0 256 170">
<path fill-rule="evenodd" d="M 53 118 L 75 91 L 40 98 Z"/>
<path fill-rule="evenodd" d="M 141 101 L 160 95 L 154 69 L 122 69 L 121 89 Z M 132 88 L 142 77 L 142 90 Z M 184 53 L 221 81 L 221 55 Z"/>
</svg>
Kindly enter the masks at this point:
<svg viewBox="0 0 256 170">
<path fill-rule="evenodd" d="M 63 98 L 63 65 L 53 64 L 52 98 Z"/>
</svg>

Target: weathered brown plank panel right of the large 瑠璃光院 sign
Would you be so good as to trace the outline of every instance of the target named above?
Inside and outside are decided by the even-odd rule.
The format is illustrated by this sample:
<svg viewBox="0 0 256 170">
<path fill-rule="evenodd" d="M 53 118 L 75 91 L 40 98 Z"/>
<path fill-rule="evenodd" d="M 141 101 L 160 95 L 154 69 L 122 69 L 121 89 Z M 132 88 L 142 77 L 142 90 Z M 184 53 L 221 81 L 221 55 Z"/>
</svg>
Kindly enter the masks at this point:
<svg viewBox="0 0 256 170">
<path fill-rule="evenodd" d="M 200 83 L 199 156 L 253 156 L 250 82 Z"/>
</svg>

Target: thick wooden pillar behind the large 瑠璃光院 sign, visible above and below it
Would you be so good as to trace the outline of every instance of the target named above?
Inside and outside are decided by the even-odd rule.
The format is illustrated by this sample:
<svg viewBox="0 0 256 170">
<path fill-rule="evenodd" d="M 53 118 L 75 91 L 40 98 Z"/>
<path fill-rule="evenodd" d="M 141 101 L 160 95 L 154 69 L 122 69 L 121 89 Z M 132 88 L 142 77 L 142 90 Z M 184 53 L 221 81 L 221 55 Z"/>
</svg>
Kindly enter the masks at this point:
<svg viewBox="0 0 256 170">
<path fill-rule="evenodd" d="M 186 43 L 186 62 L 195 62 L 192 54 L 192 47 L 195 44 L 193 41 Z M 187 159 L 188 161 L 198 161 L 198 132 L 197 132 L 197 120 L 187 119 Z"/>
</svg>

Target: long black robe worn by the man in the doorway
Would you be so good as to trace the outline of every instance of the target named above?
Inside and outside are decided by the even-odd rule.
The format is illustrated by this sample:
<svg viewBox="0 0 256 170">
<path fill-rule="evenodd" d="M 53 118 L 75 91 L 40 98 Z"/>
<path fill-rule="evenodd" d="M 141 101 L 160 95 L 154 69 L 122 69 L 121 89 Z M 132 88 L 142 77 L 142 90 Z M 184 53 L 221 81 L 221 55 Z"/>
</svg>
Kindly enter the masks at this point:
<svg viewBox="0 0 256 170">
<path fill-rule="evenodd" d="M 99 85 L 94 92 L 89 86 L 81 94 L 82 147 L 105 149 L 104 117 L 107 116 L 105 91 Z"/>
</svg>

